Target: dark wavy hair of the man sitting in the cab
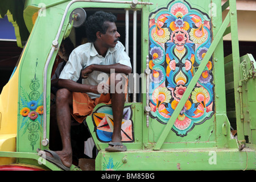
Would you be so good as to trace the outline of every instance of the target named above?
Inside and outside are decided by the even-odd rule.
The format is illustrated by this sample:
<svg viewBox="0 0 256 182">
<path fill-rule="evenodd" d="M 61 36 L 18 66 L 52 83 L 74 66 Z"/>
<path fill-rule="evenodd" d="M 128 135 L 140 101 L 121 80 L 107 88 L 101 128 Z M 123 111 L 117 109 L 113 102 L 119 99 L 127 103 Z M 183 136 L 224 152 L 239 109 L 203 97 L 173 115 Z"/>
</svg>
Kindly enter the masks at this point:
<svg viewBox="0 0 256 182">
<path fill-rule="evenodd" d="M 108 24 L 104 22 L 115 22 L 117 18 L 112 13 L 106 13 L 104 11 L 97 11 L 85 22 L 85 30 L 88 42 L 94 42 L 96 37 L 96 32 L 100 31 L 102 34 L 106 34 L 108 30 Z"/>
</svg>

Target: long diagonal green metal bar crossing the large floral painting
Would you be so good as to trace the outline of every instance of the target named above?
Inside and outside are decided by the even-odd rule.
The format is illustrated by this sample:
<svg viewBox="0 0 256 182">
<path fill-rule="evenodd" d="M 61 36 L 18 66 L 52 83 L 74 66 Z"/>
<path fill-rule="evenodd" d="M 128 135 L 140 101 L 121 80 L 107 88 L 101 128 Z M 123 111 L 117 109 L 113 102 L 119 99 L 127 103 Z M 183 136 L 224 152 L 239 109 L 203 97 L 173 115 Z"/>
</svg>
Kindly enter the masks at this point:
<svg viewBox="0 0 256 182">
<path fill-rule="evenodd" d="M 160 148 L 162 147 L 164 140 L 166 139 L 167 135 L 171 131 L 171 128 L 174 125 L 174 122 L 176 121 L 177 116 L 179 115 L 181 109 L 185 105 L 185 102 L 188 100 L 188 97 L 191 94 L 193 88 L 195 87 L 196 82 L 199 80 L 200 75 L 203 73 L 205 67 L 207 66 L 208 60 L 212 56 L 214 49 L 217 47 L 217 44 L 220 42 L 226 28 L 228 27 L 229 22 L 230 22 L 230 16 L 227 15 L 226 18 L 224 19 L 224 22 L 221 24 L 221 27 L 218 30 L 216 36 L 214 37 L 214 40 L 213 40 L 212 44 L 210 45 L 207 53 L 205 54 L 204 59 L 201 61 L 201 64 L 200 64 L 199 68 L 197 69 L 196 74 L 193 76 L 190 84 L 188 85 L 187 89 L 185 90 L 185 92 L 183 94 L 183 97 L 181 98 L 176 109 L 174 110 L 172 117 L 169 119 L 166 127 L 164 127 L 162 134 L 158 138 L 158 141 L 156 142 L 156 146 L 154 147 L 154 150 L 160 150 Z"/>
</svg>

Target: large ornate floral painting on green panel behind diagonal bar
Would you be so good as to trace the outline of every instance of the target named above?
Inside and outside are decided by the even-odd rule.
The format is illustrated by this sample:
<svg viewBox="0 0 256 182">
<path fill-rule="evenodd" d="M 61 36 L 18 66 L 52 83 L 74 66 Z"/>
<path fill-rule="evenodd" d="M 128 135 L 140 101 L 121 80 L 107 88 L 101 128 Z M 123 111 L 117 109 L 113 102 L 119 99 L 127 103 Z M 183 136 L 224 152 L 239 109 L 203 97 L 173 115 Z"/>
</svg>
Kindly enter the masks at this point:
<svg viewBox="0 0 256 182">
<path fill-rule="evenodd" d="M 166 124 L 212 40 L 210 18 L 186 1 L 150 14 L 150 116 Z M 177 117 L 172 131 L 184 137 L 214 113 L 212 60 Z"/>
</svg>

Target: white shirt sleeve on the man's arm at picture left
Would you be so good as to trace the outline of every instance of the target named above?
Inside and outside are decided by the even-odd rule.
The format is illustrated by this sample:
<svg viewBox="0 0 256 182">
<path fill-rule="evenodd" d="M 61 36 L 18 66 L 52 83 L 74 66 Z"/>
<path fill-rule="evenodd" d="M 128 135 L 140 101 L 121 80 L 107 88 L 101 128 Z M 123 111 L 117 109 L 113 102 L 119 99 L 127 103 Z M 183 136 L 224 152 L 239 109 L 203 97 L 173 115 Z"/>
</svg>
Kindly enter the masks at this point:
<svg viewBox="0 0 256 182">
<path fill-rule="evenodd" d="M 85 63 L 86 61 L 82 61 L 81 55 L 73 51 L 59 78 L 73 81 L 79 80 L 80 72 L 86 65 Z"/>
</svg>

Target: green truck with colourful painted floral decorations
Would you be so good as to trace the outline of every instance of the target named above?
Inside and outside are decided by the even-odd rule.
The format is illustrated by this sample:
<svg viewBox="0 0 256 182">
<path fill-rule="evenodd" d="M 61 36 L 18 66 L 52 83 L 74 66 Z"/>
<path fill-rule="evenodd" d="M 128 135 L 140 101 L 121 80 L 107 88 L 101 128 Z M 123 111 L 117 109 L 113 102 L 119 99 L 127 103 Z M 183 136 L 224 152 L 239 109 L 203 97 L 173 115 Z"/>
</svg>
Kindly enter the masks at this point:
<svg viewBox="0 0 256 182">
<path fill-rule="evenodd" d="M 72 128 L 79 139 L 89 135 L 95 150 L 87 159 L 77 152 L 71 170 L 85 163 L 93 170 L 255 170 L 256 63 L 240 57 L 235 0 L 22 2 L 25 27 L 10 11 L 15 3 L 1 2 L 23 51 L 0 95 L 0 170 L 61 170 L 36 152 L 55 140 L 52 68 L 63 39 L 86 42 L 84 20 L 98 10 L 117 16 L 133 65 L 122 121 L 127 151 L 104 150 L 113 116 L 111 105 L 99 104 Z M 232 54 L 224 57 L 227 34 Z"/>
</svg>

